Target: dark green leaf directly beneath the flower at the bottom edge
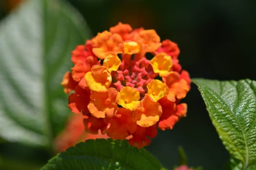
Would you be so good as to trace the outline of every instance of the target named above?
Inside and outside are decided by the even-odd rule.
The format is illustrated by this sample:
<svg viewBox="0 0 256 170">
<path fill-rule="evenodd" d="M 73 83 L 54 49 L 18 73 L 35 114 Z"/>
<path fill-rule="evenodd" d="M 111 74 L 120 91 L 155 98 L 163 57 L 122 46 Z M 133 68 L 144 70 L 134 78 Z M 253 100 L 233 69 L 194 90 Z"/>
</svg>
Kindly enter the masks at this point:
<svg viewBox="0 0 256 170">
<path fill-rule="evenodd" d="M 164 170 L 158 160 L 127 140 L 96 139 L 53 157 L 42 170 Z"/>
</svg>

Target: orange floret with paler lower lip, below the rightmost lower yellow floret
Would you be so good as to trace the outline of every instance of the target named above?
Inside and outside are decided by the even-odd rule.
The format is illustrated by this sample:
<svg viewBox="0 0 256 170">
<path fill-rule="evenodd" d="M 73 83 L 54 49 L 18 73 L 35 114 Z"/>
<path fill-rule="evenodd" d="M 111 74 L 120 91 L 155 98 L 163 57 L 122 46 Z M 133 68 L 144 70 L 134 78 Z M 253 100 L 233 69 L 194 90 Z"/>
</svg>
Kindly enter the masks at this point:
<svg viewBox="0 0 256 170">
<path fill-rule="evenodd" d="M 156 124 L 162 114 L 162 107 L 154 102 L 149 95 L 140 101 L 138 108 L 134 111 L 133 120 L 141 127 L 149 127 Z"/>
</svg>

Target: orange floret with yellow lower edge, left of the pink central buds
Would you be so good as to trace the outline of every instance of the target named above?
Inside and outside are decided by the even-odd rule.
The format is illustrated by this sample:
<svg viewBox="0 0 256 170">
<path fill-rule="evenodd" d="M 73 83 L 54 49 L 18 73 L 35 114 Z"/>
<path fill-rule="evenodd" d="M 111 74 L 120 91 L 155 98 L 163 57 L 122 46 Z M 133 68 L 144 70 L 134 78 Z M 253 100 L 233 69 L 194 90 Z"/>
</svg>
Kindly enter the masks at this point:
<svg viewBox="0 0 256 170">
<path fill-rule="evenodd" d="M 84 78 L 92 91 L 106 91 L 112 82 L 107 68 L 98 65 L 94 65 L 92 71 L 87 72 Z"/>
</svg>

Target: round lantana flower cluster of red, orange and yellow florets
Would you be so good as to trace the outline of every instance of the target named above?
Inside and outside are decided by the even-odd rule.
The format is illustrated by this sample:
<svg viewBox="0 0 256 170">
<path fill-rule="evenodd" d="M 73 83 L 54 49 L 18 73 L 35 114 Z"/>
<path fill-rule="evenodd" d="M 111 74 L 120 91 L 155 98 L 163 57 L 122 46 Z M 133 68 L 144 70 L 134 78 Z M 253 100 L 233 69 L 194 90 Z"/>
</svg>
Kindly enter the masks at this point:
<svg viewBox="0 0 256 170">
<path fill-rule="evenodd" d="M 180 100 L 190 77 L 178 63 L 179 52 L 155 30 L 119 22 L 72 51 L 74 67 L 61 83 L 70 93 L 68 106 L 83 114 L 86 132 L 147 146 L 157 129 L 172 129 L 186 116 Z"/>
</svg>

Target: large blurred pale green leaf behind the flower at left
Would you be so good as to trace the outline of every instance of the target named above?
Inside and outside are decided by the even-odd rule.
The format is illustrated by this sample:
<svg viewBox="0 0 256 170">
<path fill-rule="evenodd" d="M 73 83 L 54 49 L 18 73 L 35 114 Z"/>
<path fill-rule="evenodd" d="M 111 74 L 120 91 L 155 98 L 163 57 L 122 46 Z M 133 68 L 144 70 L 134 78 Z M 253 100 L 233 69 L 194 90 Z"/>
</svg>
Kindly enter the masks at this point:
<svg viewBox="0 0 256 170">
<path fill-rule="evenodd" d="M 0 23 L 0 136 L 52 145 L 69 114 L 60 85 L 83 44 L 82 17 L 58 0 L 26 0 Z"/>
</svg>

